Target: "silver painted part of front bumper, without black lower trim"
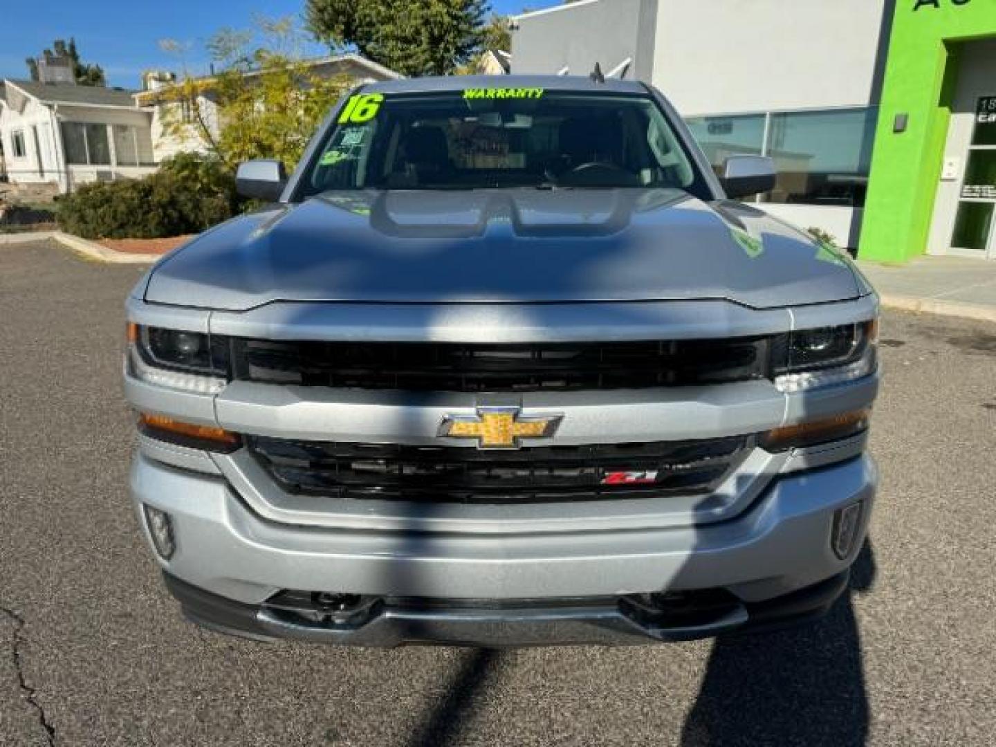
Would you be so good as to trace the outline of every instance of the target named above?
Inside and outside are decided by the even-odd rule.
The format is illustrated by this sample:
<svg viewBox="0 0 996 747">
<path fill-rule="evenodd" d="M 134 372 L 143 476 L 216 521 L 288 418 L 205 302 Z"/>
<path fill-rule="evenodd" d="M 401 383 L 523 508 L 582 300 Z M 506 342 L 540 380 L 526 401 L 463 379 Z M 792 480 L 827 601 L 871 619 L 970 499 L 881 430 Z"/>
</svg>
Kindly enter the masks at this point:
<svg viewBox="0 0 996 747">
<path fill-rule="evenodd" d="M 460 535 L 281 525 L 249 510 L 220 477 L 141 453 L 131 471 L 139 517 L 144 503 L 173 522 L 176 552 L 160 560 L 163 570 L 250 605 L 285 589 L 514 600 L 724 588 L 763 602 L 847 570 L 867 529 L 875 482 L 871 458 L 862 455 L 782 476 L 747 511 L 712 525 Z M 840 559 L 830 544 L 834 515 L 858 501 L 865 504 L 859 541 Z"/>
</svg>

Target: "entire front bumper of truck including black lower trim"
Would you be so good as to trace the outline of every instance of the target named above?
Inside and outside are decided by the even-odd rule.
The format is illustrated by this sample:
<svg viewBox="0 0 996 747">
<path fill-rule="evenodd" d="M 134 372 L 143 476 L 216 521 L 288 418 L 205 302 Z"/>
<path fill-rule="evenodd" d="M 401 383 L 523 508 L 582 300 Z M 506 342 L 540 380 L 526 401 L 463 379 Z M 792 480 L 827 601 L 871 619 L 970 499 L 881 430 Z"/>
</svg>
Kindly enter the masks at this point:
<svg viewBox="0 0 996 747">
<path fill-rule="evenodd" d="M 874 465 L 863 454 L 781 476 L 748 510 L 716 524 L 461 535 L 418 526 L 359 532 L 278 524 L 260 518 L 219 476 L 176 469 L 142 453 L 131 472 L 136 507 L 153 506 L 172 520 L 176 551 L 160 563 L 190 618 L 259 637 L 366 645 L 646 642 L 818 615 L 843 588 L 828 580 L 840 580 L 861 547 L 875 483 Z M 834 516 L 857 502 L 864 506 L 857 539 L 848 556 L 838 558 L 830 539 Z M 837 592 L 824 594 L 832 588 Z M 725 590 L 741 604 L 683 626 L 633 622 L 615 603 L 604 604 L 626 595 L 703 589 Z M 362 625 L 330 628 L 260 607 L 282 590 L 506 604 L 429 612 L 388 606 Z M 797 594 L 813 604 L 797 605 Z M 599 603 L 550 609 L 514 602 L 555 599 Z M 789 601 L 788 613 L 777 611 L 779 600 Z"/>
</svg>

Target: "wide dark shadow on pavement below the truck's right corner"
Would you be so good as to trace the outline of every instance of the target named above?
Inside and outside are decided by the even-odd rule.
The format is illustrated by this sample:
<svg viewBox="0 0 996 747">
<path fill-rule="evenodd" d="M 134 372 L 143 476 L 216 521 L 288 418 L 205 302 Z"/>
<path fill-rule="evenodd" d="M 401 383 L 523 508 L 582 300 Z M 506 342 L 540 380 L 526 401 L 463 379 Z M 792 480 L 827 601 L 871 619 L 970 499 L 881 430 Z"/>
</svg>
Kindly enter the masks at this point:
<svg viewBox="0 0 996 747">
<path fill-rule="evenodd" d="M 866 542 L 849 590 L 823 621 L 717 640 L 682 747 L 864 745 L 869 703 L 853 598 L 871 591 L 874 576 Z"/>
</svg>

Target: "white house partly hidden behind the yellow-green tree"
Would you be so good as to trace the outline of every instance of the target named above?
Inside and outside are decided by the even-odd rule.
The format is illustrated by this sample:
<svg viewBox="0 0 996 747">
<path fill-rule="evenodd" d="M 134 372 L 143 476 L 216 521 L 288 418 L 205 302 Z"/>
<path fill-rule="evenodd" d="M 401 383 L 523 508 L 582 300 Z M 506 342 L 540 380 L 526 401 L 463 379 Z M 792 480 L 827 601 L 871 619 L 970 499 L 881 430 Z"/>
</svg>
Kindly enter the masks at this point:
<svg viewBox="0 0 996 747">
<path fill-rule="evenodd" d="M 401 77 L 398 73 L 357 54 L 320 58 L 310 60 L 306 64 L 315 76 L 321 78 L 343 77 L 353 85 L 394 80 Z M 254 76 L 258 73 L 247 73 L 246 75 Z M 191 106 L 188 102 L 177 101 L 176 96 L 172 93 L 175 76 L 170 74 L 146 76 L 143 81 L 145 90 L 132 94 L 137 107 L 151 112 L 152 149 L 156 162 L 180 151 L 205 151 L 207 149 L 207 143 L 200 136 L 194 118 L 199 115 L 208 128 L 213 133 L 217 133 L 217 106 L 211 91 L 211 81 L 210 76 L 195 81 L 197 90 L 201 92 L 197 96 L 196 106 Z"/>
</svg>

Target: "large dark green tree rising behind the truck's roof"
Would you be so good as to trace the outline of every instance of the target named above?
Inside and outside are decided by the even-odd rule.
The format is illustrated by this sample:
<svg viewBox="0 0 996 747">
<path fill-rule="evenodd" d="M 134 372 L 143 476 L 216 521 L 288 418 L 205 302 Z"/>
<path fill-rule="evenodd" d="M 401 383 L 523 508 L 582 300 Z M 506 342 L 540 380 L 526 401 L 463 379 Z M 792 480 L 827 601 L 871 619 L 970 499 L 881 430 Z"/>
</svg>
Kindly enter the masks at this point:
<svg viewBox="0 0 996 747">
<path fill-rule="evenodd" d="M 480 52 L 487 0 L 308 0 L 308 28 L 406 76 L 448 75 Z"/>
</svg>

